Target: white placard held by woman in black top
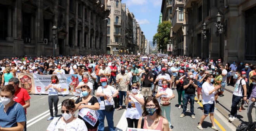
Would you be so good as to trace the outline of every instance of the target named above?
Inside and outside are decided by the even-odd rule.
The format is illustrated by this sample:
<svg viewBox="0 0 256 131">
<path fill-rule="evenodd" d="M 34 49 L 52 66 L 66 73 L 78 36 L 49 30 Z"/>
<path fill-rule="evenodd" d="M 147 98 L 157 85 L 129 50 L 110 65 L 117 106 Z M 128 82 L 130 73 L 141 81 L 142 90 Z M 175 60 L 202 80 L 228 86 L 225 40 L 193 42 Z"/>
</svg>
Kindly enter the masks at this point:
<svg viewBox="0 0 256 131">
<path fill-rule="evenodd" d="M 89 108 L 82 108 L 79 111 L 79 116 L 81 116 L 83 119 L 85 119 L 85 121 L 87 121 L 88 123 L 90 123 L 92 126 L 94 126 L 100 116 L 100 114 L 98 113 L 98 111 L 89 109 Z"/>
</svg>

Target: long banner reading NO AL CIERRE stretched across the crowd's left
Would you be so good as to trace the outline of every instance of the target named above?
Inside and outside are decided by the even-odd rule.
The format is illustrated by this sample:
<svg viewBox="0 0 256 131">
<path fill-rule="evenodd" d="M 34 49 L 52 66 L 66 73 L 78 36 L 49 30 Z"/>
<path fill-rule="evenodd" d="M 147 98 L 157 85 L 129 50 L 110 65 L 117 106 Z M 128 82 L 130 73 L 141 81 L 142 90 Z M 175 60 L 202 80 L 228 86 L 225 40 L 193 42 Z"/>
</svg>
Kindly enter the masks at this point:
<svg viewBox="0 0 256 131">
<path fill-rule="evenodd" d="M 76 86 L 82 81 L 82 76 L 78 74 L 54 74 L 59 79 L 61 92 L 59 94 L 75 94 Z M 20 80 L 19 87 L 28 91 L 29 94 L 48 94 L 45 88 L 51 83 L 53 75 L 40 75 L 34 73 L 18 73 L 17 77 Z"/>
</svg>

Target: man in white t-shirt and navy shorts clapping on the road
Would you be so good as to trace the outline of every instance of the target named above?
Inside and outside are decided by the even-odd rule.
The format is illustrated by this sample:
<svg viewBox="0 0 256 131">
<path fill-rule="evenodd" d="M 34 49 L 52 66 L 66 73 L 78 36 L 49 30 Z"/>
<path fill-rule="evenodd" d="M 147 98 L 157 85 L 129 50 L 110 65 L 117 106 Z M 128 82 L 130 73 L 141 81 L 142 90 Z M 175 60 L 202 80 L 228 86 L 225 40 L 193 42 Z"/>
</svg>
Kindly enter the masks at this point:
<svg viewBox="0 0 256 131">
<path fill-rule="evenodd" d="M 218 92 L 218 89 L 220 89 L 220 84 L 213 86 L 211 82 L 214 80 L 211 74 L 207 74 L 206 82 L 202 85 L 202 104 L 204 108 L 204 114 L 202 115 L 200 122 L 197 126 L 198 129 L 202 128 L 202 122 L 204 119 L 210 114 L 210 120 L 212 123 L 211 128 L 218 131 L 219 129 L 215 126 L 214 123 L 214 94 Z"/>
</svg>

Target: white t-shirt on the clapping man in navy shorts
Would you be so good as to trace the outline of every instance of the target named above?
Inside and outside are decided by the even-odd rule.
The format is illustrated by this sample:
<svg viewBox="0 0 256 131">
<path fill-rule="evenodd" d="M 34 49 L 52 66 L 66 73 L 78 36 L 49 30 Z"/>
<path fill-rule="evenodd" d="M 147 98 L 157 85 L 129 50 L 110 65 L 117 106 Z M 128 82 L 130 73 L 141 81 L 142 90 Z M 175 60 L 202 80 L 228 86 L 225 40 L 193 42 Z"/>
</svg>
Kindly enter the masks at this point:
<svg viewBox="0 0 256 131">
<path fill-rule="evenodd" d="M 204 82 L 202 84 L 202 104 L 213 104 L 214 102 L 214 94 L 216 92 L 213 92 L 212 94 L 209 94 L 209 91 L 213 90 L 214 86 L 213 84 L 209 84 L 208 82 Z"/>
</svg>

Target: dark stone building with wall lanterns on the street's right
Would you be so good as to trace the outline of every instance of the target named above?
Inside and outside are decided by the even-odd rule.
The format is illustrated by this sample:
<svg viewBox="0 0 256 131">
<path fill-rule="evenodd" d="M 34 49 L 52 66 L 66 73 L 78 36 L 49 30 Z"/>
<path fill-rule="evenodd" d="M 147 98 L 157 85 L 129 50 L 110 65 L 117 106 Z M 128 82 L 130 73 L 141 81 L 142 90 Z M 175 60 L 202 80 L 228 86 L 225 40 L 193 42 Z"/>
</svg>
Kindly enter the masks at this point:
<svg viewBox="0 0 256 131">
<path fill-rule="evenodd" d="M 189 14 L 189 55 L 255 63 L 255 0 L 185 0 L 184 9 Z M 218 13 L 222 30 L 215 25 Z M 203 23 L 205 35 L 201 33 Z"/>
</svg>

